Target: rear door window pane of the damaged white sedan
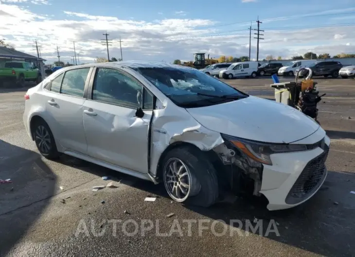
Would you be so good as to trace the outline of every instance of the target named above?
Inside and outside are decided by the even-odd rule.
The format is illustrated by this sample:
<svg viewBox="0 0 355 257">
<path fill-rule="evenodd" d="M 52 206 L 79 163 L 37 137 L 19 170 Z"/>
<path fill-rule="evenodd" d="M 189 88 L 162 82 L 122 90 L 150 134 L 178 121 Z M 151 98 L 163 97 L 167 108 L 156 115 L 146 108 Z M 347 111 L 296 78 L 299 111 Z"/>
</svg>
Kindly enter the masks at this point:
<svg viewBox="0 0 355 257">
<path fill-rule="evenodd" d="M 90 68 L 69 70 L 64 74 L 60 93 L 69 96 L 84 96 L 85 81 Z"/>
</svg>

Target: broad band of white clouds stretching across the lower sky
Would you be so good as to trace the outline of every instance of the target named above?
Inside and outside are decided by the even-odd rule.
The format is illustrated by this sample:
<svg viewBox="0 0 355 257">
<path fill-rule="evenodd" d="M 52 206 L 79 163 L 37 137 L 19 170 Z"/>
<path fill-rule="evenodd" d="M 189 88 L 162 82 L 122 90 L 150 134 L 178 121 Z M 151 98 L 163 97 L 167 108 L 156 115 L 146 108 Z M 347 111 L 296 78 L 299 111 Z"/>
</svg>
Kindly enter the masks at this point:
<svg viewBox="0 0 355 257">
<path fill-rule="evenodd" d="M 68 7 L 69 8 L 69 7 Z M 106 47 L 101 44 L 103 33 L 112 39 L 110 56 L 120 58 L 120 43 L 124 60 L 151 60 L 172 62 L 175 59 L 192 60 L 193 53 L 205 52 L 210 57 L 219 55 L 248 56 L 249 32 L 238 30 L 226 32 L 228 27 L 211 19 L 160 18 L 154 21 L 121 19 L 115 16 L 95 16 L 93 14 L 64 10 L 64 17 L 58 18 L 33 13 L 18 5 L 1 4 L 0 35 L 8 44 L 18 50 L 36 55 L 32 48 L 35 39 L 42 46 L 42 57 L 49 63 L 55 61 L 56 44 L 61 60 L 71 62 L 73 41 L 81 62 L 93 62 L 96 57 L 106 56 Z M 6 13 L 6 14 L 4 14 Z M 21 24 L 21 26 L 18 26 Z M 217 25 L 219 26 L 219 25 Z M 297 26 L 297 25 L 294 25 Z M 225 31 L 221 31 L 225 29 Z M 222 32 L 222 33 L 221 33 Z M 273 56 L 292 57 L 312 50 L 317 54 L 327 52 L 355 53 L 355 26 L 307 28 L 307 29 L 267 29 L 265 40 L 260 43 L 260 59 Z M 301 36 L 300 36 L 301 35 Z M 335 35 L 338 38 L 335 39 Z M 256 40 L 251 41 L 251 58 L 256 57 Z"/>
</svg>

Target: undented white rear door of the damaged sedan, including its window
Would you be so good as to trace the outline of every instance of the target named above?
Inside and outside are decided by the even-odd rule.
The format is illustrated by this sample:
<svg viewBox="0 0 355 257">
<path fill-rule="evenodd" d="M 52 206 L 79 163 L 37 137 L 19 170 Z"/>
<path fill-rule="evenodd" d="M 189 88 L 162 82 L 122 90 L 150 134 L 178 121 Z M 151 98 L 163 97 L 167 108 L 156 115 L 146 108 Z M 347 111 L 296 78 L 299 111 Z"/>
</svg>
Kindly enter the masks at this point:
<svg viewBox="0 0 355 257">
<path fill-rule="evenodd" d="M 64 148 L 87 153 L 83 125 L 85 85 L 89 84 L 90 67 L 71 69 L 55 77 L 44 96 L 46 121 L 54 138 Z M 45 86 L 45 88 L 47 85 Z"/>
</svg>

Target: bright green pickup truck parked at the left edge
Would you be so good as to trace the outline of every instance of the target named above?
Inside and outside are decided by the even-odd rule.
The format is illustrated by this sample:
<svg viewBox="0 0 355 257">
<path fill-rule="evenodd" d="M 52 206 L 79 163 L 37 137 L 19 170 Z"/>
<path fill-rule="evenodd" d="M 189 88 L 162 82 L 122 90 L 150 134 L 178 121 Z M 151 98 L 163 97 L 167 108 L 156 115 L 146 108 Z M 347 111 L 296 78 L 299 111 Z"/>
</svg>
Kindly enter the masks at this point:
<svg viewBox="0 0 355 257">
<path fill-rule="evenodd" d="M 6 62 L 4 68 L 0 68 L 0 86 L 6 82 L 15 82 L 20 86 L 25 81 L 42 81 L 41 72 L 31 63 L 27 62 Z"/>
</svg>

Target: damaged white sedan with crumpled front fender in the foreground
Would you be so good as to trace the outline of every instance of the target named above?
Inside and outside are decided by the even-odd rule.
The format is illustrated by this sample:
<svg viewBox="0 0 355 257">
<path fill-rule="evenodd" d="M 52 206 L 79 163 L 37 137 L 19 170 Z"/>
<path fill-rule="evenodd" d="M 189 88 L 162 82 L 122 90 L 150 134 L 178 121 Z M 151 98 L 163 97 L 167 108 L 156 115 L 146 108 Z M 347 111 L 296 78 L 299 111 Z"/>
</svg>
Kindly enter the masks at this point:
<svg viewBox="0 0 355 257">
<path fill-rule="evenodd" d="M 251 188 L 270 210 L 312 197 L 330 139 L 289 106 L 248 96 L 194 68 L 151 62 L 60 69 L 28 90 L 23 120 L 38 151 L 65 153 L 211 206 Z"/>
</svg>

